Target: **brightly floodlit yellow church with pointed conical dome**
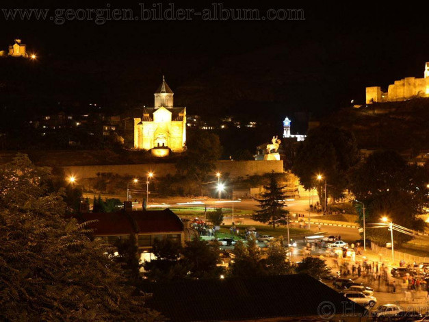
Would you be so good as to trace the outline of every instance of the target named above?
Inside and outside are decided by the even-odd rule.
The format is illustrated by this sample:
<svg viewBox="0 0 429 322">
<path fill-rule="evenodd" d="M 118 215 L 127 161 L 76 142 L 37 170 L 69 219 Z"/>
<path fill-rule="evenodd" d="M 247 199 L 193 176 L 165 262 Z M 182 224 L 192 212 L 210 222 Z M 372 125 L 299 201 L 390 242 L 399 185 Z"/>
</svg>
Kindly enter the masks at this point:
<svg viewBox="0 0 429 322">
<path fill-rule="evenodd" d="M 163 77 L 155 92 L 155 107 L 144 108 L 134 119 L 134 148 L 151 150 L 154 156 L 183 152 L 186 143 L 186 108 L 174 108 L 174 93 Z"/>
</svg>

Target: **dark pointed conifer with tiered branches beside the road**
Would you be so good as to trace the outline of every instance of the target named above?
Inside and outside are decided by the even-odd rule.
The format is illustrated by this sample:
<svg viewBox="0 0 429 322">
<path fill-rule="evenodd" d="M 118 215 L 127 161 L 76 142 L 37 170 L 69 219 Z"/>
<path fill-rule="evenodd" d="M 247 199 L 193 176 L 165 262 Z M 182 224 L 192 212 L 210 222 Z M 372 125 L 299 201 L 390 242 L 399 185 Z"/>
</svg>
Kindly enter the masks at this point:
<svg viewBox="0 0 429 322">
<path fill-rule="evenodd" d="M 252 216 L 255 221 L 261 223 L 272 222 L 272 227 L 276 228 L 276 222 L 281 219 L 287 219 L 288 210 L 283 209 L 285 203 L 285 194 L 282 192 L 284 186 L 278 186 L 274 173 L 270 175 L 270 183 L 268 186 L 263 186 L 265 193 L 262 193 L 262 199 L 257 199 L 259 208 L 256 214 Z"/>
</svg>

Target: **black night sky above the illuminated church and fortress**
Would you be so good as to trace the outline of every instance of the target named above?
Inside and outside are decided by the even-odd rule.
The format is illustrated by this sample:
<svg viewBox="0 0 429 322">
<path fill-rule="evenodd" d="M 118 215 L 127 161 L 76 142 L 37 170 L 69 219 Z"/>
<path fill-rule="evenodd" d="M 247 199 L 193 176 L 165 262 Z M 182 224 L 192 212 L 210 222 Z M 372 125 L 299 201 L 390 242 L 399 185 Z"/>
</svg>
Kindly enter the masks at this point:
<svg viewBox="0 0 429 322">
<path fill-rule="evenodd" d="M 304 21 L 203 21 L 194 16 L 192 21 L 57 25 L 50 18 L 5 21 L 1 12 L 0 47 L 7 49 L 20 37 L 37 53 L 38 66 L 26 72 L 37 84 L 23 84 L 34 105 L 96 101 L 107 110 L 131 114 L 141 105 L 153 105 L 163 74 L 175 105 L 187 106 L 188 114 L 259 120 L 293 112 L 325 116 L 350 106 L 351 99 L 363 103 L 365 86 L 387 88 L 395 79 L 423 77 L 429 61 L 427 8 L 311 2 L 223 3 L 224 8 L 258 8 L 262 14 L 270 8 L 302 8 Z M 107 3 L 2 1 L 1 6 L 50 8 L 53 14 L 55 8 L 107 8 Z M 144 5 L 151 8 L 152 2 Z M 210 2 L 174 5 L 211 8 Z M 110 8 L 140 14 L 138 1 L 110 3 Z M 13 70 L 0 71 L 3 82 Z"/>
</svg>

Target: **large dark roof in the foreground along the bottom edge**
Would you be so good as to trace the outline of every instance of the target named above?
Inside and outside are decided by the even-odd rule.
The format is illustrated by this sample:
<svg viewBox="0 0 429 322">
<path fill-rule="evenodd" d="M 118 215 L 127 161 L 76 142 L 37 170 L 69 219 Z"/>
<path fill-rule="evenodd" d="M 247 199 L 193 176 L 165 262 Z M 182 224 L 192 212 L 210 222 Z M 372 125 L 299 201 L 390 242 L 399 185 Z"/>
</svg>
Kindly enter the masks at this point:
<svg viewBox="0 0 429 322">
<path fill-rule="evenodd" d="M 147 305 L 170 321 L 363 322 L 368 312 L 306 274 L 146 285 Z"/>
</svg>

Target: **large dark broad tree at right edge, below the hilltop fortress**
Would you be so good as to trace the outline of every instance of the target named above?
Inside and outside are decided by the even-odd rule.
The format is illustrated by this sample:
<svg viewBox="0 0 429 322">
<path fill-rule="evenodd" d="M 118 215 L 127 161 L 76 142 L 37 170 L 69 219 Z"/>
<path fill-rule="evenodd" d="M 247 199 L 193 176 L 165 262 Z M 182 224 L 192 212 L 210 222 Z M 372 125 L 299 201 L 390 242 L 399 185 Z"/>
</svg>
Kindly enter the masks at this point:
<svg viewBox="0 0 429 322">
<path fill-rule="evenodd" d="M 419 215 L 429 205 L 428 182 L 428 169 L 407 164 L 393 151 L 374 152 L 350 174 L 350 190 L 365 203 L 367 223 L 379 223 L 381 216 L 387 216 L 393 223 L 418 231 L 424 229 Z M 362 223 L 363 213 L 359 214 Z M 387 228 L 367 229 L 366 234 L 379 243 L 391 240 Z M 394 231 L 393 240 L 400 245 L 411 236 Z"/>
</svg>

